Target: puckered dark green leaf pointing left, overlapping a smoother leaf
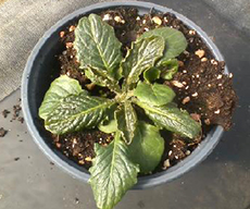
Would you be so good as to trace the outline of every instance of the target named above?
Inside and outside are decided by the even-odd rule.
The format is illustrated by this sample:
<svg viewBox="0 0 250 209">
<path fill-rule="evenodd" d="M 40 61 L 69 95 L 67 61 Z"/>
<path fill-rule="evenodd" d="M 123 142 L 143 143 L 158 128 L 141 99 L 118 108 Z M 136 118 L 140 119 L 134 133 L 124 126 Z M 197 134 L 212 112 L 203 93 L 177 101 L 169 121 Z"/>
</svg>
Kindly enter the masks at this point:
<svg viewBox="0 0 250 209">
<path fill-rule="evenodd" d="M 65 134 L 97 126 L 114 101 L 98 97 L 71 95 L 48 115 L 45 126 L 53 134 Z"/>
</svg>

